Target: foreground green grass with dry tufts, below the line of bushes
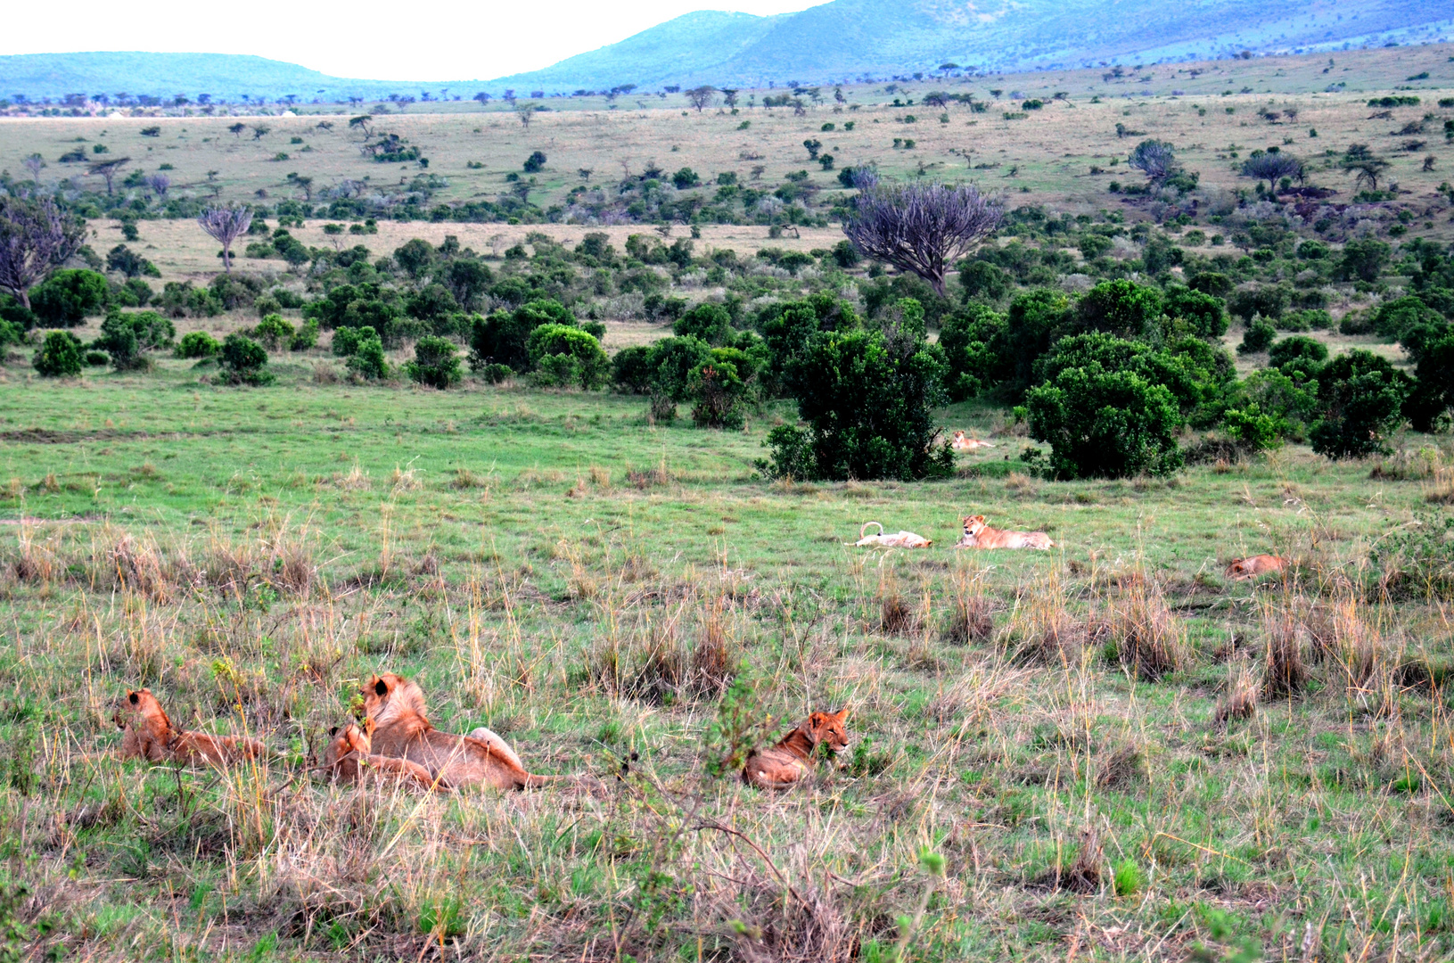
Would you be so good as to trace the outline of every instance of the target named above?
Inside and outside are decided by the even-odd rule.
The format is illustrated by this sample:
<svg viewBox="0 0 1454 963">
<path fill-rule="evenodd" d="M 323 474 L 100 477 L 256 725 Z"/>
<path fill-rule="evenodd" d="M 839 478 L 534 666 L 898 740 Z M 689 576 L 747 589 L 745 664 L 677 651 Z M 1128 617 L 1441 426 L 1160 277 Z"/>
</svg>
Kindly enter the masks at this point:
<svg viewBox="0 0 1454 963">
<path fill-rule="evenodd" d="M 38 951 L 413 959 L 442 937 L 506 959 L 846 959 L 856 943 L 887 960 L 926 893 L 925 848 L 947 877 L 904 959 L 1454 950 L 1448 704 L 1378 682 L 1451 655 L 1438 607 L 1358 602 L 1384 675 L 1349 692 L 1304 639 L 1301 698 L 1213 722 L 1237 666 L 1259 672 L 1264 611 L 1317 630 L 1336 573 L 1362 572 L 1428 479 L 1293 448 L 1165 482 L 782 486 L 752 461 L 787 407 L 720 433 L 647 425 L 616 396 L 281 374 L 217 388 L 164 361 L 0 384 L 0 854 L 41 895 L 19 911 L 45 930 Z M 977 461 L 1021 444 L 999 441 Z M 1448 458 L 1442 439 L 1405 447 Z M 954 553 L 971 512 L 1063 547 Z M 868 519 L 936 544 L 843 547 Z M 1303 563 L 1298 591 L 1223 582 L 1230 557 L 1274 547 Z M 298 559 L 301 591 L 284 578 Z M 1138 579 L 1185 642 L 1179 669 L 1137 679 L 1099 634 L 1064 662 L 1012 658 L 1057 612 L 1077 639 L 1118 624 Z M 922 623 L 907 634 L 881 628 L 896 595 Z M 961 604 L 986 607 L 992 634 L 947 639 Z M 776 720 L 739 738 L 849 706 L 849 767 L 776 796 L 705 777 L 705 746 L 724 745 L 710 730 L 731 729 L 718 697 L 631 692 L 656 678 L 650 652 L 689 658 L 711 631 L 742 660 L 731 698 Z M 420 678 L 442 729 L 490 724 L 534 771 L 593 772 L 608 799 L 375 800 L 298 778 L 384 669 Z M 116 762 L 109 703 L 142 684 L 173 719 L 256 732 L 279 758 L 221 777 Z M 1099 884 L 1048 889 L 1088 826 Z"/>
</svg>

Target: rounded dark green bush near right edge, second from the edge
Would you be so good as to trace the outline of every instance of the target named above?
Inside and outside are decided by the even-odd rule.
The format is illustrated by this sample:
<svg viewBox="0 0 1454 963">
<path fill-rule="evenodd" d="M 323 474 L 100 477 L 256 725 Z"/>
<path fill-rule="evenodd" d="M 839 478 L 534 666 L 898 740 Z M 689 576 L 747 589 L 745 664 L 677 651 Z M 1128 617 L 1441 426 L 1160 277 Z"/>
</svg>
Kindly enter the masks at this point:
<svg viewBox="0 0 1454 963">
<path fill-rule="evenodd" d="M 1329 458 L 1361 458 L 1387 451 L 1384 436 L 1402 420 L 1409 375 L 1368 351 L 1333 358 L 1317 375 L 1320 420 L 1313 451 Z"/>
</svg>

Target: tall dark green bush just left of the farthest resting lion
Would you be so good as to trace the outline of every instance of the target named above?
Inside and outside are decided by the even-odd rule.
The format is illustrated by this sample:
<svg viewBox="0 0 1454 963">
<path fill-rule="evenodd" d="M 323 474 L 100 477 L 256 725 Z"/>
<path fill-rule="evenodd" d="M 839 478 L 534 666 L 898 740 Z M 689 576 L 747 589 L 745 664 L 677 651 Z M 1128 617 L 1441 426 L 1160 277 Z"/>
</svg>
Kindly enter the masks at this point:
<svg viewBox="0 0 1454 963">
<path fill-rule="evenodd" d="M 944 477 L 954 470 L 938 449 L 933 407 L 947 368 L 925 342 L 923 308 L 904 298 L 881 330 L 817 330 L 788 364 L 787 385 L 806 429 L 768 435 L 765 474 L 806 479 Z"/>
</svg>

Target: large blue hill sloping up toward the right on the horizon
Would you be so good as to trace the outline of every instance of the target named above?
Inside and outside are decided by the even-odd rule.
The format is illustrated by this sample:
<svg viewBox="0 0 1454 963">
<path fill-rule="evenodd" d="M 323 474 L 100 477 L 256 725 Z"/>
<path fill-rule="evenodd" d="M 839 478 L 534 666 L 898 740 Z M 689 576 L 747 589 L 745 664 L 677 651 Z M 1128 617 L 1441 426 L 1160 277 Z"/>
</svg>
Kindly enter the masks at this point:
<svg viewBox="0 0 1454 963">
<path fill-rule="evenodd" d="M 755 17 L 688 13 L 619 44 L 490 81 L 570 92 L 634 83 L 826 83 L 936 70 L 1307 52 L 1454 36 L 1450 0 L 833 0 Z"/>
</svg>

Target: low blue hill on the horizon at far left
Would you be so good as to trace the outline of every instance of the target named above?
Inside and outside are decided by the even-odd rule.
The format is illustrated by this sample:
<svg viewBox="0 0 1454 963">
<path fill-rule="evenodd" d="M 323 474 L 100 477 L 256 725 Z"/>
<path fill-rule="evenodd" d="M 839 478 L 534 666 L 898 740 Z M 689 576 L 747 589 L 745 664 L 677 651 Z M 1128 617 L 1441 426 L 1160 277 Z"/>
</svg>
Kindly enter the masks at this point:
<svg viewBox="0 0 1454 963">
<path fill-rule="evenodd" d="M 473 84 L 473 86 L 470 86 Z M 478 81 L 387 81 L 330 77 L 316 70 L 281 60 L 240 54 L 17 54 L 0 57 L 0 97 L 23 95 L 38 100 L 60 99 L 70 93 L 87 96 L 118 93 L 153 97 L 185 95 L 196 100 L 208 93 L 217 100 L 266 97 L 275 100 L 294 95 L 301 102 L 377 100 L 391 93 L 419 97 L 425 90 L 438 97 L 441 87 L 470 97 L 483 86 Z"/>
</svg>

